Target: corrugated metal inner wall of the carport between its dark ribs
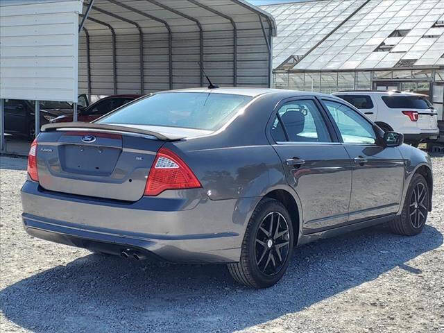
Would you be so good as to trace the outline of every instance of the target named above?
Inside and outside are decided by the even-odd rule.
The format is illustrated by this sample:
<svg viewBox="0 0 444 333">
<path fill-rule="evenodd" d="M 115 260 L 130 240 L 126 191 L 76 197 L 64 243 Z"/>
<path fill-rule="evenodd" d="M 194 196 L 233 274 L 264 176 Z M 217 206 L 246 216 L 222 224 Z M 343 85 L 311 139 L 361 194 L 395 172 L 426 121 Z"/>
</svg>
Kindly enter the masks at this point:
<svg viewBox="0 0 444 333">
<path fill-rule="evenodd" d="M 234 31 L 232 23 L 214 15 L 203 8 L 184 0 L 161 1 L 185 13 L 193 15 L 203 27 L 203 66 L 213 83 L 221 86 L 269 87 L 270 62 L 269 51 L 258 15 L 248 9 L 239 10 L 230 0 L 200 0 L 204 6 L 229 15 L 237 26 L 237 48 L 234 49 Z M 123 1 L 121 1 L 123 3 Z M 126 1 L 134 6 L 137 3 Z M 120 8 L 105 0 L 96 0 L 89 17 L 110 24 L 116 33 L 117 94 L 140 94 L 139 32 L 134 24 L 111 17 L 100 10 L 112 12 L 125 19 L 131 19 L 142 27 L 144 34 L 143 49 L 143 93 L 164 89 L 181 89 L 206 86 L 201 83 L 200 68 L 200 33 L 195 22 L 163 8 L 153 6 L 150 15 L 165 19 L 171 25 L 172 32 L 172 82 L 169 78 L 169 35 L 159 22 L 146 20 L 141 15 Z M 85 10 L 84 10 L 85 11 Z M 263 18 L 264 30 L 270 38 L 268 22 Z M 91 63 L 90 93 L 114 94 L 112 73 L 112 33 L 109 27 L 87 20 L 85 24 L 89 34 L 89 54 Z M 85 32 L 79 40 L 79 93 L 88 93 L 87 58 Z M 237 53 L 237 73 L 234 75 L 234 54 Z"/>
</svg>

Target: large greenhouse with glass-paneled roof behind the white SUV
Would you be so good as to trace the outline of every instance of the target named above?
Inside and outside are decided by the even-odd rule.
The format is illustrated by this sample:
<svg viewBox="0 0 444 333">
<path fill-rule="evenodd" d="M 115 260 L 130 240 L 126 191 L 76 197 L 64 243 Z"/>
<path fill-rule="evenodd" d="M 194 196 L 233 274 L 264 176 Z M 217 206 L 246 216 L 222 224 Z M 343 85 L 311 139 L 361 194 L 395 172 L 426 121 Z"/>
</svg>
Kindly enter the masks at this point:
<svg viewBox="0 0 444 333">
<path fill-rule="evenodd" d="M 323 0 L 261 8 L 278 26 L 274 87 L 419 92 L 444 120 L 444 1 Z"/>
</svg>

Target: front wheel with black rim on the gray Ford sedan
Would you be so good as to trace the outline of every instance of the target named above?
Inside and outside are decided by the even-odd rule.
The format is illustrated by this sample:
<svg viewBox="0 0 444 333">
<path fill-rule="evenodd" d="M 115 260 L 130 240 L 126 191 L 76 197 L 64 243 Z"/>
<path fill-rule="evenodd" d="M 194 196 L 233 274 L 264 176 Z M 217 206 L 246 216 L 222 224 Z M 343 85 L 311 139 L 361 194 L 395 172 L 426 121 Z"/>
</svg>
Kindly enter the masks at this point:
<svg viewBox="0 0 444 333">
<path fill-rule="evenodd" d="M 416 174 L 407 189 L 400 216 L 390 222 L 391 231 L 404 236 L 419 234 L 427 221 L 429 204 L 427 181 L 422 175 Z"/>
</svg>

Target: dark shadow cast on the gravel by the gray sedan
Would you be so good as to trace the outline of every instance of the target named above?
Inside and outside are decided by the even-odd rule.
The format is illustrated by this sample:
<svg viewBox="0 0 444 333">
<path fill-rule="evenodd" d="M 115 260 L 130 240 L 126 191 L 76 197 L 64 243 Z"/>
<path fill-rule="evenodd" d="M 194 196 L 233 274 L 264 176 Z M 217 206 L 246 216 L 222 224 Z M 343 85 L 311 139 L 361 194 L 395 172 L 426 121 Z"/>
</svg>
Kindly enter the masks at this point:
<svg viewBox="0 0 444 333">
<path fill-rule="evenodd" d="M 253 290 L 225 266 L 131 262 L 87 255 L 0 293 L 1 311 L 33 332 L 232 332 L 300 311 L 376 279 L 443 244 L 426 225 L 416 237 L 377 226 L 296 249 L 280 283 Z M 30 253 L 31 255 L 31 253 Z"/>
</svg>

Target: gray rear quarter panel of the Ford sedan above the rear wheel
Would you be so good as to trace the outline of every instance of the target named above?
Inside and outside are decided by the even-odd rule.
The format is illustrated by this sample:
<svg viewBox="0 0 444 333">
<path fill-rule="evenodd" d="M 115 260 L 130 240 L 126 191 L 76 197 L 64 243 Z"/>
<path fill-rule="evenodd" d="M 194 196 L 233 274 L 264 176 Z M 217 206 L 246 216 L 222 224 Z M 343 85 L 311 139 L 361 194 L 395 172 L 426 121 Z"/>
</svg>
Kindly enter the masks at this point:
<svg viewBox="0 0 444 333">
<path fill-rule="evenodd" d="M 224 130 L 165 146 L 184 155 L 212 200 L 264 196 L 275 187 L 288 186 L 265 134 L 279 100 L 279 96 L 259 96 Z"/>
</svg>

